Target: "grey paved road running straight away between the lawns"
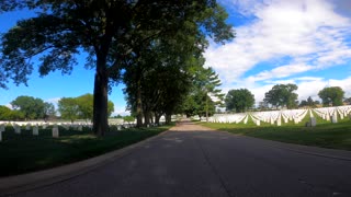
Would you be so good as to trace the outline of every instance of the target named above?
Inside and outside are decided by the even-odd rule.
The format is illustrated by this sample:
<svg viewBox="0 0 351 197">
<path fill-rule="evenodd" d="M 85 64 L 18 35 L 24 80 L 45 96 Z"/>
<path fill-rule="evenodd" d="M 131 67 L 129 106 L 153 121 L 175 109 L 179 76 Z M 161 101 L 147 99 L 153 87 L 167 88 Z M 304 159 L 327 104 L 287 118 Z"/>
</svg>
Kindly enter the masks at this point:
<svg viewBox="0 0 351 197">
<path fill-rule="evenodd" d="M 14 196 L 351 196 L 351 161 L 182 123 L 80 176 Z"/>
</svg>

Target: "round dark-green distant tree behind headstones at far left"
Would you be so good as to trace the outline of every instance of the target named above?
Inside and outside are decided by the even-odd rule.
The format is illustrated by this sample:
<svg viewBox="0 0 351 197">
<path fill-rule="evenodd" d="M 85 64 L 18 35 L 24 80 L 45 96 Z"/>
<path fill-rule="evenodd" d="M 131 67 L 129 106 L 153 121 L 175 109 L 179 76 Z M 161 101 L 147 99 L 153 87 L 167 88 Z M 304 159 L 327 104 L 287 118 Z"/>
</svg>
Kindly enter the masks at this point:
<svg viewBox="0 0 351 197">
<path fill-rule="evenodd" d="M 44 101 L 33 96 L 18 96 L 11 102 L 14 109 L 23 113 L 25 119 L 44 117 Z"/>
</svg>

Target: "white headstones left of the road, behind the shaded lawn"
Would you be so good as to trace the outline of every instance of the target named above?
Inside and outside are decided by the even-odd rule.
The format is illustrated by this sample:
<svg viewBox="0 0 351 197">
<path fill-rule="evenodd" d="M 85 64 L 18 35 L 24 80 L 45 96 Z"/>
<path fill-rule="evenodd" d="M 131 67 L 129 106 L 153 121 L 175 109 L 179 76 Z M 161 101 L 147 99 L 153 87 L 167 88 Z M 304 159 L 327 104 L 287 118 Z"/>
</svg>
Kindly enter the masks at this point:
<svg viewBox="0 0 351 197">
<path fill-rule="evenodd" d="M 14 132 L 18 135 L 21 135 L 22 127 L 25 127 L 25 130 L 30 131 L 32 130 L 33 136 L 39 135 L 39 128 L 47 129 L 47 127 L 52 126 L 52 134 L 53 138 L 59 137 L 59 127 L 63 127 L 66 130 L 72 129 L 82 131 L 83 128 L 92 129 L 91 123 L 83 123 L 83 124 L 68 124 L 68 123 L 42 123 L 42 121 L 0 121 L 0 141 L 2 141 L 2 132 L 5 131 L 7 126 L 10 125 L 13 127 Z M 163 125 L 163 121 L 160 121 L 160 125 Z M 117 130 L 127 129 L 127 128 L 134 128 L 136 127 L 135 123 L 123 123 L 123 124 L 116 124 L 112 123 L 110 126 L 114 126 L 117 128 Z M 156 124 L 150 124 L 148 127 L 157 126 Z"/>
</svg>

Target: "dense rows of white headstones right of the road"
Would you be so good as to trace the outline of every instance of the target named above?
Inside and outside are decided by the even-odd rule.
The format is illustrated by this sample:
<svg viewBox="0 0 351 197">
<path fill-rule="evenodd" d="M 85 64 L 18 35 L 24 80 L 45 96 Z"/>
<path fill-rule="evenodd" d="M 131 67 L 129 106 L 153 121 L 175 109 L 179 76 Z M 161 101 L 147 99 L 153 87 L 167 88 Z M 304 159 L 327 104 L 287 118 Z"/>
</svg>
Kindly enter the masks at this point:
<svg viewBox="0 0 351 197">
<path fill-rule="evenodd" d="M 260 126 L 261 121 L 270 123 L 271 125 L 281 126 L 282 121 L 287 124 L 294 121 L 298 124 L 302 119 L 309 114 L 309 121 L 307 126 L 316 126 L 317 121 L 314 117 L 314 113 L 325 120 L 331 123 L 338 123 L 338 116 L 340 119 L 348 117 L 351 119 L 351 105 L 338 106 L 338 107 L 322 107 L 322 108 L 306 108 L 306 109 L 284 109 L 284 111 L 270 111 L 270 112 L 254 112 L 254 113 L 240 113 L 240 114 L 216 114 L 208 118 L 212 123 L 244 123 L 247 124 L 249 117 L 257 126 Z"/>
</svg>

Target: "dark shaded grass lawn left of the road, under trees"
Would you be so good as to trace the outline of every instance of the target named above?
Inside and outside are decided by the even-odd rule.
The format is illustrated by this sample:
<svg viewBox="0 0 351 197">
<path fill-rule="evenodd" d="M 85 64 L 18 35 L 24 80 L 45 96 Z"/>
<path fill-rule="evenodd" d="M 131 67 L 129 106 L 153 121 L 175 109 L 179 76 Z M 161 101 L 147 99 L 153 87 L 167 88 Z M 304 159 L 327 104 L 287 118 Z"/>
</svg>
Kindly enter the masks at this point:
<svg viewBox="0 0 351 197">
<path fill-rule="evenodd" d="M 52 129 L 41 129 L 39 136 L 22 128 L 21 135 L 12 127 L 2 132 L 0 142 L 0 176 L 22 174 L 92 158 L 121 149 L 168 130 L 171 126 L 129 128 L 117 131 L 112 127 L 104 137 L 95 137 L 90 130 L 65 130 L 59 138 L 52 137 Z"/>
</svg>

